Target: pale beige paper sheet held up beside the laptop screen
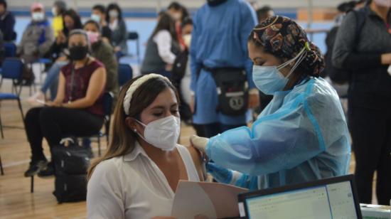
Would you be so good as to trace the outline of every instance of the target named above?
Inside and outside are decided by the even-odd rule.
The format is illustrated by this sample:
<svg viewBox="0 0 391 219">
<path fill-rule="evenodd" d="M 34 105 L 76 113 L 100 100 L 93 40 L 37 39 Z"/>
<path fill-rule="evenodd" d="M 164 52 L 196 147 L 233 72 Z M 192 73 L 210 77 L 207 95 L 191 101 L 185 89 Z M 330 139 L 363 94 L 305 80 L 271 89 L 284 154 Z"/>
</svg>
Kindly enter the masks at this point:
<svg viewBox="0 0 391 219">
<path fill-rule="evenodd" d="M 245 192 L 245 188 L 222 183 L 179 181 L 171 216 L 178 219 L 237 217 L 237 195 Z"/>
</svg>

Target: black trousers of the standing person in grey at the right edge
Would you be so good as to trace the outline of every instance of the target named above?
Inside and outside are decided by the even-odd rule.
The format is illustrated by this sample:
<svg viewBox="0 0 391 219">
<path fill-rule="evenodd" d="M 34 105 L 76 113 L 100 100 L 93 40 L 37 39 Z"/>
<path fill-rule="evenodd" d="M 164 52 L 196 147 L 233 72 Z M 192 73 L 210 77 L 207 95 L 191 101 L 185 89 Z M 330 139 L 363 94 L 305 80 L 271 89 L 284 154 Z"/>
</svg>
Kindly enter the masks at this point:
<svg viewBox="0 0 391 219">
<path fill-rule="evenodd" d="M 391 199 L 391 112 L 349 107 L 349 129 L 355 154 L 355 182 L 360 203 L 371 203 L 373 173 L 380 205 Z"/>
</svg>

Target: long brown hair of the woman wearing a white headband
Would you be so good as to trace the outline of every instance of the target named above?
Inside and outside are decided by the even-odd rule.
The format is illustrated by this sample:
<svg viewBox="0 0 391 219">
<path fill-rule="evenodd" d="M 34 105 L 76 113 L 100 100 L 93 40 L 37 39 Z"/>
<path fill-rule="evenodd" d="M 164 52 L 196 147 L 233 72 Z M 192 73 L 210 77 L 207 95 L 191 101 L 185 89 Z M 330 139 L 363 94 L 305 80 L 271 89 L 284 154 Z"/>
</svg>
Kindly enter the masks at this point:
<svg viewBox="0 0 391 219">
<path fill-rule="evenodd" d="M 132 132 L 132 130 L 127 126 L 125 119 L 127 117 L 132 117 L 139 119 L 141 112 L 151 105 L 156 97 L 166 89 L 171 89 L 176 94 L 176 100 L 179 104 L 179 97 L 176 88 L 173 87 L 171 82 L 168 82 L 162 78 L 151 78 L 144 82 L 132 95 L 132 100 L 130 101 L 129 115 L 126 115 L 124 112 L 124 97 L 129 89 L 130 85 L 134 81 L 141 78 L 142 76 L 136 77 L 129 82 L 127 82 L 124 87 L 122 87 L 121 92 L 119 92 L 118 102 L 114 110 L 114 121 L 111 129 L 111 141 L 109 148 L 107 149 L 105 155 L 99 159 L 92 162 L 90 169 L 87 173 L 87 178 L 90 179 L 95 167 L 100 164 L 100 162 L 107 159 L 112 159 L 117 156 L 123 156 L 128 154 L 134 149 L 137 135 Z"/>
</svg>

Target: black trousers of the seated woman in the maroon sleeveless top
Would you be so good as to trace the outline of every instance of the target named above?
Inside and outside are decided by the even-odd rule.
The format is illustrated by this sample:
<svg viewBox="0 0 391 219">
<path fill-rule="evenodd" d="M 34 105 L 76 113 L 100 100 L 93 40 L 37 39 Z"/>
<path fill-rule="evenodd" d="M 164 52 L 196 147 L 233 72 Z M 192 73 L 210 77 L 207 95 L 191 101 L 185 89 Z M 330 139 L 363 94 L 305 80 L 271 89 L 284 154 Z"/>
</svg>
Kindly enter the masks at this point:
<svg viewBox="0 0 391 219">
<path fill-rule="evenodd" d="M 103 117 L 85 110 L 64 107 L 37 107 L 28 110 L 24 119 L 33 160 L 45 160 L 43 137 L 50 149 L 65 136 L 88 137 L 102 128 Z"/>
</svg>

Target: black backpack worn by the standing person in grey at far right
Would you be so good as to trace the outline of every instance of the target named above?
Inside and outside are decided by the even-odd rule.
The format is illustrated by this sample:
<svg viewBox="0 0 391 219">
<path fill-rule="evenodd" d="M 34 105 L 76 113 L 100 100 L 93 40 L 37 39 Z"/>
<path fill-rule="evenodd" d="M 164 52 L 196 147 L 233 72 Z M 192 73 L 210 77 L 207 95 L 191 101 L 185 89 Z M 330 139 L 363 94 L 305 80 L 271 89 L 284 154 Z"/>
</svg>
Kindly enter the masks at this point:
<svg viewBox="0 0 391 219">
<path fill-rule="evenodd" d="M 358 41 L 360 40 L 360 32 L 363 28 L 363 24 L 365 23 L 366 13 L 363 9 L 360 9 L 358 11 L 351 11 L 350 13 L 355 14 L 355 44 L 357 45 Z M 333 57 L 333 47 L 334 43 L 336 41 L 336 36 L 338 33 L 339 26 L 335 26 L 331 28 L 331 30 L 327 33 L 326 36 L 326 46 L 327 46 L 327 52 L 324 55 L 325 58 L 325 69 L 324 73 L 325 75 L 328 75 L 330 79 L 335 82 L 336 84 L 342 85 L 350 80 L 350 71 L 344 70 L 341 68 L 336 68 L 333 65 L 332 57 Z"/>
</svg>

